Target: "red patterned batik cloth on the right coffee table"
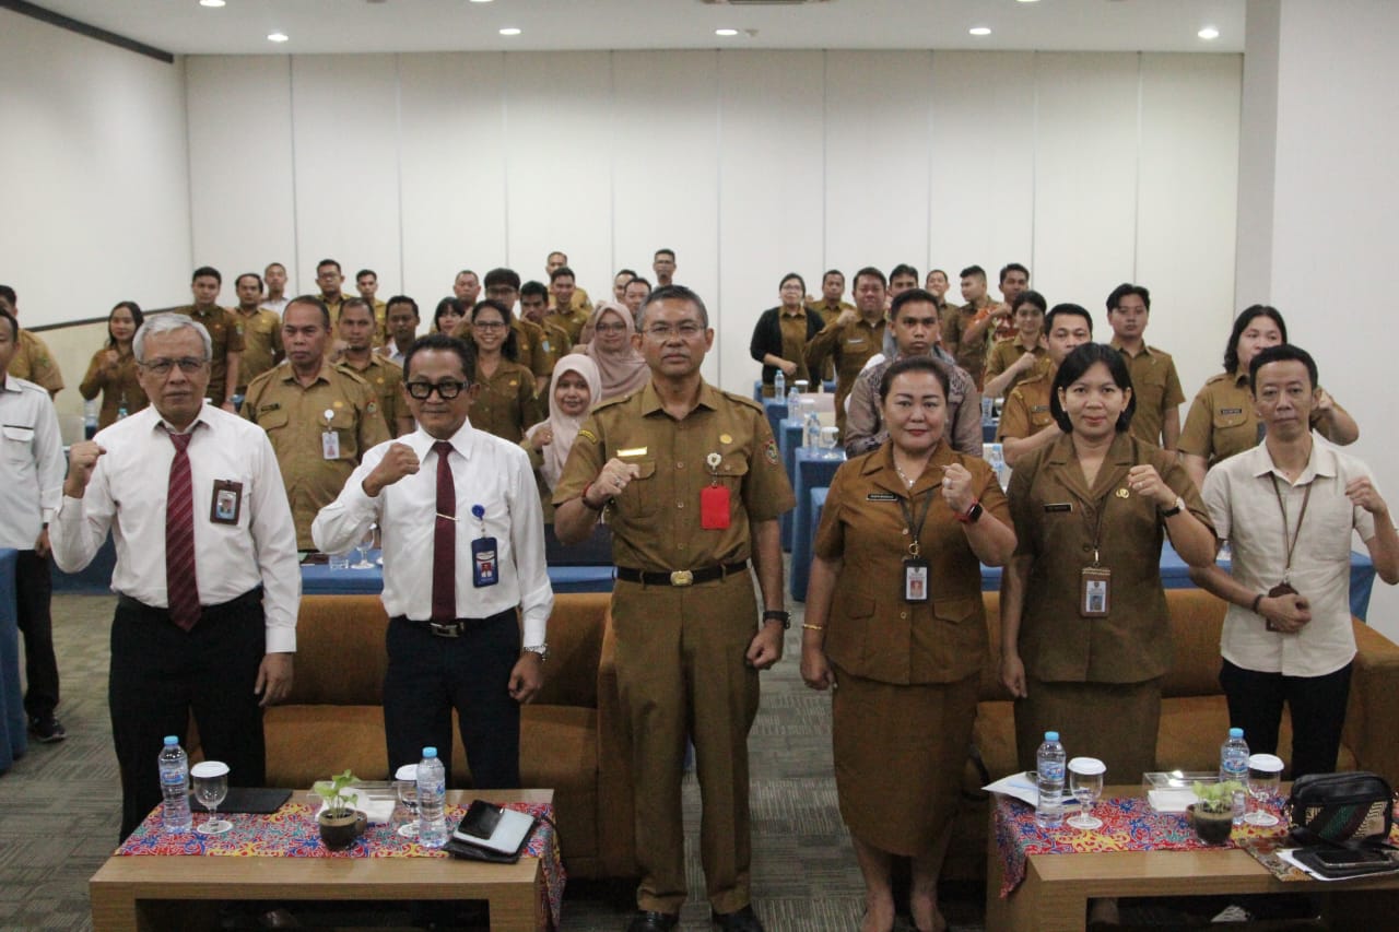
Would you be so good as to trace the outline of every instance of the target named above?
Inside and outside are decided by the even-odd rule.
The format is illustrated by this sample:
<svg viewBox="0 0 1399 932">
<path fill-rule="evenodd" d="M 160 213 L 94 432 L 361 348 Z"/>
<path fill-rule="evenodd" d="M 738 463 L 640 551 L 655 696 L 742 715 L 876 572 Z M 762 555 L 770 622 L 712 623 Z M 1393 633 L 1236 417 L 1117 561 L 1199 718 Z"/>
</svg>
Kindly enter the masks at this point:
<svg viewBox="0 0 1399 932">
<path fill-rule="evenodd" d="M 996 800 L 996 848 L 1004 865 L 1000 896 L 1010 893 L 1025 879 L 1025 859 L 1032 854 L 1084 854 L 1100 851 L 1202 851 L 1206 848 L 1249 848 L 1281 838 L 1283 826 L 1259 828 L 1235 826 L 1227 845 L 1207 845 L 1195 837 L 1195 828 L 1184 813 L 1158 813 L 1142 796 L 1101 799 L 1093 814 L 1102 820 L 1101 828 L 1083 831 L 1066 824 L 1041 828 L 1035 824 L 1032 806 L 1010 796 Z"/>
</svg>

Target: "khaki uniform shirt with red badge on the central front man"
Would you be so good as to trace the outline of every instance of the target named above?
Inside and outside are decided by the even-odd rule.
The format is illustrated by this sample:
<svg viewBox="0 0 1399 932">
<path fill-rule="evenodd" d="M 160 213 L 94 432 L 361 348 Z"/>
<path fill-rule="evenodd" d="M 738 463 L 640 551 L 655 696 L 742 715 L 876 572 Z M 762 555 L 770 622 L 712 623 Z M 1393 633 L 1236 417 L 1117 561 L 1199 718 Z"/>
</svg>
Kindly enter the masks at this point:
<svg viewBox="0 0 1399 932">
<path fill-rule="evenodd" d="M 719 455 L 713 469 L 711 453 Z M 614 456 L 639 470 L 606 509 L 618 567 L 740 563 L 753 556 L 748 523 L 775 519 L 796 504 L 762 409 L 706 382 L 700 404 L 680 421 L 666 414 L 651 382 L 595 407 L 574 441 L 554 504 L 582 495 Z M 729 526 L 719 530 L 700 526 L 700 490 L 711 484 L 729 490 Z"/>
</svg>

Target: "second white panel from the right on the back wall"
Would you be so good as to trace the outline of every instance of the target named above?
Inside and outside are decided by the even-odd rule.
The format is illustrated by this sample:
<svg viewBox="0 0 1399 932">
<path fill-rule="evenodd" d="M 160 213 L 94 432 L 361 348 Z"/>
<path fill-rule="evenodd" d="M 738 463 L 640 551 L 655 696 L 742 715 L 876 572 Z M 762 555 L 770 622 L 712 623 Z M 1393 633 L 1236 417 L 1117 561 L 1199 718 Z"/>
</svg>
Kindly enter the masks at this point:
<svg viewBox="0 0 1399 932">
<path fill-rule="evenodd" d="M 1137 56 L 1041 53 L 1035 87 L 1034 281 L 1105 339 L 1102 302 L 1135 274 Z"/>
</svg>

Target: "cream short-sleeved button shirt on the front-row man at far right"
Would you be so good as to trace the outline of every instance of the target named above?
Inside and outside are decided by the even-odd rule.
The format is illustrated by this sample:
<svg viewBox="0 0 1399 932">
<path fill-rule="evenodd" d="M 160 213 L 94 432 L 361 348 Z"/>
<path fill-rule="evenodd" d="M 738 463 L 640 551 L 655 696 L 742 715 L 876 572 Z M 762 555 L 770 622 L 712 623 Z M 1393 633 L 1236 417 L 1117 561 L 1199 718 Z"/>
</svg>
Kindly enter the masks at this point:
<svg viewBox="0 0 1399 932">
<path fill-rule="evenodd" d="M 1228 539 L 1230 575 L 1259 593 L 1283 581 L 1287 540 L 1297 535 L 1297 516 L 1311 487 L 1288 574 L 1288 584 L 1311 603 L 1311 621 L 1295 634 L 1269 631 L 1262 616 L 1231 605 L 1220 635 L 1226 661 L 1259 673 L 1325 676 L 1356 656 L 1350 627 L 1351 530 L 1365 542 L 1375 536 L 1374 515 L 1346 497 L 1346 484 L 1361 476 L 1370 476 L 1364 463 L 1315 432 L 1311 459 L 1295 483 L 1273 465 L 1267 444 L 1217 463 L 1205 476 L 1200 497 L 1214 532 Z M 1274 479 L 1287 507 L 1286 535 Z"/>
</svg>

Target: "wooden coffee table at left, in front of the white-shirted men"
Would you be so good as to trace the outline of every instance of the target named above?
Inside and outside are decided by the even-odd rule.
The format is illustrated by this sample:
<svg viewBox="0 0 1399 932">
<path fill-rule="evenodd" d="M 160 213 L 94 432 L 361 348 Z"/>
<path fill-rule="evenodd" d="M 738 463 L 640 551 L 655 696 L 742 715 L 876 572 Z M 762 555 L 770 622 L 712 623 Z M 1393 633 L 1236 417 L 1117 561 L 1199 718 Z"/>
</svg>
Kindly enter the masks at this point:
<svg viewBox="0 0 1399 932">
<path fill-rule="evenodd" d="M 551 803 L 551 789 L 448 793 L 448 802 Z M 513 865 L 456 858 L 112 856 L 92 875 L 94 932 L 217 928 L 225 900 L 487 900 L 491 929 L 548 928 L 539 858 Z M 203 915 L 203 919 L 200 919 Z"/>
</svg>

